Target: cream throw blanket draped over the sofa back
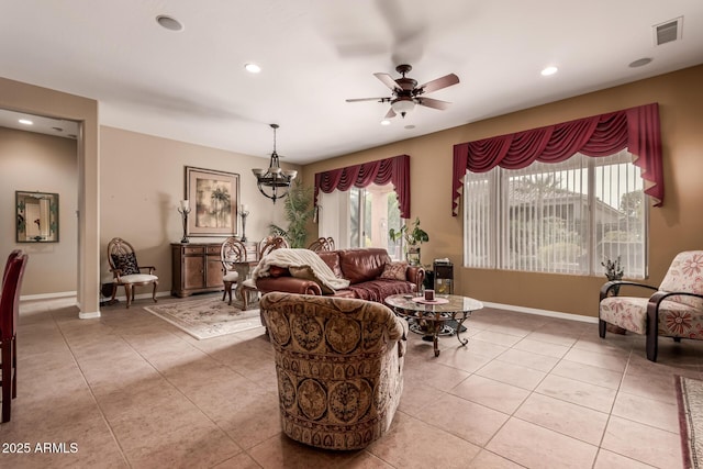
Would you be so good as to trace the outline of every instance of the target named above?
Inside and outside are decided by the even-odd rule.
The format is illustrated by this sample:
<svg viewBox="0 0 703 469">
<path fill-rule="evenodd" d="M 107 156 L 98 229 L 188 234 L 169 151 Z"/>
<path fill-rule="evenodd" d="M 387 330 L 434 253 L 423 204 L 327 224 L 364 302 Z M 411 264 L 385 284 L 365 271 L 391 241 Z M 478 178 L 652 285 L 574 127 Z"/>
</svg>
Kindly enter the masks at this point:
<svg viewBox="0 0 703 469">
<path fill-rule="evenodd" d="M 349 287 L 349 280 L 335 277 L 324 260 L 310 249 L 281 248 L 272 250 L 254 268 L 252 278 L 269 277 L 271 266 L 286 267 L 291 276 L 309 278 L 328 291 L 342 290 Z"/>
</svg>

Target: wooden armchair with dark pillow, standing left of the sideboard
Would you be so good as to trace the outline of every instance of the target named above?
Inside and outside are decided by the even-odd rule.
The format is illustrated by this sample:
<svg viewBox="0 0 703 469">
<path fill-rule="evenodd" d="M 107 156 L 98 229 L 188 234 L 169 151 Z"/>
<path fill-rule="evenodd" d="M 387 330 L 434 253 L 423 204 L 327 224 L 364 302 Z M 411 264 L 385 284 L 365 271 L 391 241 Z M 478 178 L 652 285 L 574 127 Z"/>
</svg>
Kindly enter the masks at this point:
<svg viewBox="0 0 703 469">
<path fill-rule="evenodd" d="M 118 293 L 118 287 L 123 286 L 127 297 L 127 308 L 134 301 L 134 287 L 143 287 L 147 284 L 154 286 L 152 299 L 156 303 L 156 288 L 158 287 L 158 277 L 154 275 L 156 267 L 142 266 L 136 261 L 134 248 L 126 241 L 114 237 L 108 243 L 108 263 L 110 271 L 114 276 L 112 279 L 112 299 Z M 146 273 L 143 272 L 146 270 Z"/>
</svg>

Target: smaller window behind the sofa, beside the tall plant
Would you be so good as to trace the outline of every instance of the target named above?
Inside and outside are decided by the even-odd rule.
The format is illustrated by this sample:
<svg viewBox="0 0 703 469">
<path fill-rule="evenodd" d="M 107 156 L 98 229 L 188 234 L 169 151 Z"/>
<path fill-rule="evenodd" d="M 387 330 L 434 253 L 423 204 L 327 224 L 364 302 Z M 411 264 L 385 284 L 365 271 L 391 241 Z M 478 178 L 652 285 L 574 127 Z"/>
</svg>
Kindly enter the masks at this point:
<svg viewBox="0 0 703 469">
<path fill-rule="evenodd" d="M 332 236 L 338 248 L 383 247 L 391 258 L 402 257 L 400 244 L 388 237 L 390 228 L 401 227 L 400 206 L 392 185 L 321 192 L 319 203 L 320 235 Z"/>
</svg>

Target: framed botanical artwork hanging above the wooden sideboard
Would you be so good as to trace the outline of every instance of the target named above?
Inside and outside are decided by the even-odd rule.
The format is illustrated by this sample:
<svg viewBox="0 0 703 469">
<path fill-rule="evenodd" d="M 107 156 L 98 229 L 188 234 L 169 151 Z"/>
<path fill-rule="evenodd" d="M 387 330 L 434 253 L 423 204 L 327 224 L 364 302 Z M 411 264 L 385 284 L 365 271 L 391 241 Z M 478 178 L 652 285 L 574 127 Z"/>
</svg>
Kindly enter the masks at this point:
<svg viewBox="0 0 703 469">
<path fill-rule="evenodd" d="M 236 236 L 239 175 L 186 166 L 190 236 Z"/>
</svg>

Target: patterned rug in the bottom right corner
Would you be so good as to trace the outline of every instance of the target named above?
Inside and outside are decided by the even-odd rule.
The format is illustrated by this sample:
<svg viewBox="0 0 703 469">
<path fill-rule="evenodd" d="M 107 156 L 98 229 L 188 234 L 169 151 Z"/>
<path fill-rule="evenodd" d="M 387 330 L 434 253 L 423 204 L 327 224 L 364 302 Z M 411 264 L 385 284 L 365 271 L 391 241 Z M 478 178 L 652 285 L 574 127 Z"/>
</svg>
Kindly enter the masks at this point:
<svg viewBox="0 0 703 469">
<path fill-rule="evenodd" d="M 703 381 L 674 377 L 679 401 L 681 453 L 685 469 L 701 468 L 703 461 Z"/>
</svg>

